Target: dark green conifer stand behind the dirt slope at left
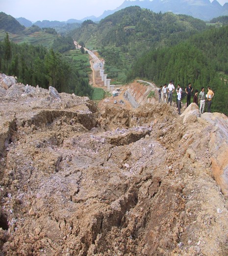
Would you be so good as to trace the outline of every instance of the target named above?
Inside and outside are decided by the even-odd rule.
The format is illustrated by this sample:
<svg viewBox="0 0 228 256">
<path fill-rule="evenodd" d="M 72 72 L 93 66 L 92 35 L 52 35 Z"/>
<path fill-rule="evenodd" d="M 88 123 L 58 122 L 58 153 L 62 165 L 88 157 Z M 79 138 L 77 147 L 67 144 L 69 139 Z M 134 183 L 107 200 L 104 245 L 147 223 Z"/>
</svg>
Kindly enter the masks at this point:
<svg viewBox="0 0 228 256">
<path fill-rule="evenodd" d="M 87 75 L 81 76 L 72 60 L 42 46 L 17 45 L 6 34 L 0 42 L 0 72 L 17 76 L 24 84 L 43 88 L 55 87 L 58 92 L 91 96 Z"/>
</svg>

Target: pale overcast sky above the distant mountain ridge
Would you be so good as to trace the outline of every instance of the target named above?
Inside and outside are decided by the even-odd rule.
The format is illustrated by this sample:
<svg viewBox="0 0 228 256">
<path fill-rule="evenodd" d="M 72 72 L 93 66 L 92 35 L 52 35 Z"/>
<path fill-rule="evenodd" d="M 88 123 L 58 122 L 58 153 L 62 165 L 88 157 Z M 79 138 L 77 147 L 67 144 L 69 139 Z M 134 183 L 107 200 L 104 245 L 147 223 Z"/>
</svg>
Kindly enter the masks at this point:
<svg viewBox="0 0 228 256">
<path fill-rule="evenodd" d="M 114 10 L 124 0 L 0 0 L 0 12 L 14 18 L 24 17 L 38 20 L 67 21 L 85 17 L 99 17 L 105 10 Z M 218 0 L 221 5 L 228 0 Z"/>
</svg>

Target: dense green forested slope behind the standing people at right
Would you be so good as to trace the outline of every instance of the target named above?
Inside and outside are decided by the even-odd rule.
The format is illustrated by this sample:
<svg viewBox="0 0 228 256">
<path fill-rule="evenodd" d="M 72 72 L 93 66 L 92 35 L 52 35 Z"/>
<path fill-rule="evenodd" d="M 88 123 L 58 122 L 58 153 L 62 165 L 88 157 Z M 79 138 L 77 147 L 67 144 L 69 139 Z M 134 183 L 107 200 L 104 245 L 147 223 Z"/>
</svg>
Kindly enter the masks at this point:
<svg viewBox="0 0 228 256">
<path fill-rule="evenodd" d="M 213 111 L 228 115 L 228 26 L 211 28 L 176 46 L 152 50 L 136 59 L 128 80 L 136 77 L 163 85 L 169 80 L 194 90 L 210 86 L 215 93 Z M 184 98 L 185 94 L 183 94 Z"/>
</svg>

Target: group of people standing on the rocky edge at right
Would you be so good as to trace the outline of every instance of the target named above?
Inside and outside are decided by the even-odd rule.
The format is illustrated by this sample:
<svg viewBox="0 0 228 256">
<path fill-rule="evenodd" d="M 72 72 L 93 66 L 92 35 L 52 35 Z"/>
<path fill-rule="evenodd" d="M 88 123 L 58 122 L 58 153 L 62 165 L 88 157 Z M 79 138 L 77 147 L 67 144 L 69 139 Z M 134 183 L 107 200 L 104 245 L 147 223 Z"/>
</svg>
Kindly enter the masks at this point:
<svg viewBox="0 0 228 256">
<path fill-rule="evenodd" d="M 166 103 L 167 98 L 167 104 L 170 102 L 170 105 L 172 105 L 172 99 L 173 99 L 173 93 L 174 93 L 175 87 L 173 85 L 173 82 L 170 81 L 169 85 L 164 84 L 164 86 L 160 86 L 160 89 L 158 90 L 158 101 L 160 103 L 161 98 L 164 103 Z M 193 102 L 198 105 L 200 102 L 200 112 L 203 114 L 204 112 L 204 107 L 205 107 L 205 101 L 207 101 L 207 112 L 211 112 L 211 100 L 214 96 L 214 93 L 212 92 L 210 86 L 207 87 L 207 94 L 205 95 L 204 92 L 204 87 L 201 88 L 201 92 L 198 97 L 198 90 L 195 90 L 194 96 L 193 96 Z M 177 85 L 177 109 L 178 109 L 178 114 L 180 115 L 180 108 L 181 108 L 181 94 L 182 94 L 182 89 L 180 88 L 180 85 Z M 185 88 L 185 93 L 187 96 L 187 107 L 191 104 L 191 94 L 193 92 L 193 88 L 191 83 L 188 83 L 188 86 Z"/>
</svg>

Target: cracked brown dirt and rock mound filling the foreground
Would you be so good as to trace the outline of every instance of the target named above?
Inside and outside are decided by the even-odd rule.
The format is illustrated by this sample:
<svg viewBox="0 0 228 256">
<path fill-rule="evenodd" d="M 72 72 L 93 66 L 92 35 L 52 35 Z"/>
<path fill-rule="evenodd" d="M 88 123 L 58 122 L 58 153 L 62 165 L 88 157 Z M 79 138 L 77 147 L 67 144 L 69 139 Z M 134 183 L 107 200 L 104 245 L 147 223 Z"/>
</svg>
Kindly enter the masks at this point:
<svg viewBox="0 0 228 256">
<path fill-rule="evenodd" d="M 0 91 L 0 255 L 227 255 L 226 116 L 50 91 Z"/>
</svg>

